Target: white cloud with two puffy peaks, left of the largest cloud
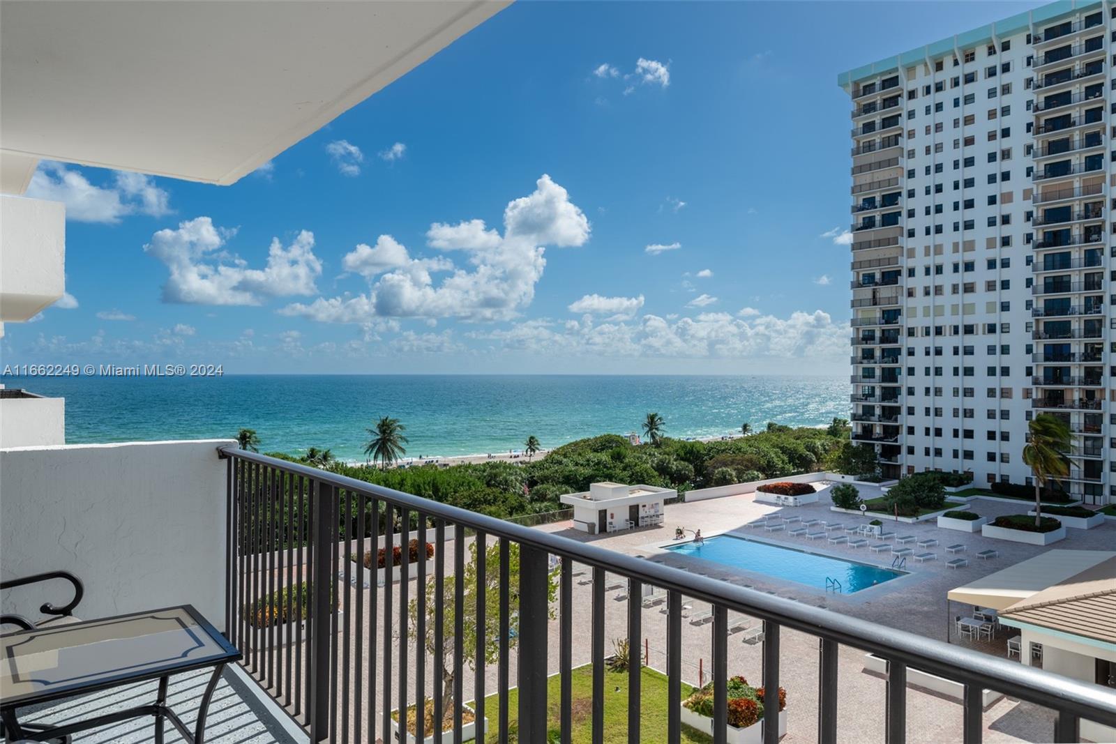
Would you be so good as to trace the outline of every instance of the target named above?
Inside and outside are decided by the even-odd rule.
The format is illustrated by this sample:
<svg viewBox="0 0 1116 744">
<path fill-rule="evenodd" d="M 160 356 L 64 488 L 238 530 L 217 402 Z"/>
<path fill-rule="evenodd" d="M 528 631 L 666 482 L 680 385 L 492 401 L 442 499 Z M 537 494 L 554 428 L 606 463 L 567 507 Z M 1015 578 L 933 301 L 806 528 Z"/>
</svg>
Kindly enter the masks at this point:
<svg viewBox="0 0 1116 744">
<path fill-rule="evenodd" d="M 200 216 L 160 230 L 144 252 L 170 270 L 163 284 L 164 302 L 194 305 L 260 305 L 271 297 L 317 293 L 315 280 L 321 262 L 314 254 L 314 233 L 302 230 L 289 245 L 271 239 L 263 269 L 230 257 L 222 249 L 234 230 L 218 228 Z"/>
</svg>

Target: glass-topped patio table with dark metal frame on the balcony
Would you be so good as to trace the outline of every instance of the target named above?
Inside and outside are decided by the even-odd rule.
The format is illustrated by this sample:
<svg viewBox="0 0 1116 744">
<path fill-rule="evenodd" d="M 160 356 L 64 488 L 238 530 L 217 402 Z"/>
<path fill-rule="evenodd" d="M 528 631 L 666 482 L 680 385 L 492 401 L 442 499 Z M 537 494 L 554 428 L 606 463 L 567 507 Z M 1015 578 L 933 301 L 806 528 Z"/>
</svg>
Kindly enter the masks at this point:
<svg viewBox="0 0 1116 744">
<path fill-rule="evenodd" d="M 122 721 L 155 717 L 155 741 L 170 721 L 193 744 L 203 744 L 205 715 L 224 665 L 241 658 L 190 605 L 69 625 L 21 630 L 0 637 L 0 717 L 10 741 L 45 742 Z M 202 695 L 193 734 L 166 705 L 172 675 L 213 669 Z M 19 724 L 17 709 L 66 697 L 158 679 L 155 700 L 85 721 L 33 731 Z"/>
</svg>

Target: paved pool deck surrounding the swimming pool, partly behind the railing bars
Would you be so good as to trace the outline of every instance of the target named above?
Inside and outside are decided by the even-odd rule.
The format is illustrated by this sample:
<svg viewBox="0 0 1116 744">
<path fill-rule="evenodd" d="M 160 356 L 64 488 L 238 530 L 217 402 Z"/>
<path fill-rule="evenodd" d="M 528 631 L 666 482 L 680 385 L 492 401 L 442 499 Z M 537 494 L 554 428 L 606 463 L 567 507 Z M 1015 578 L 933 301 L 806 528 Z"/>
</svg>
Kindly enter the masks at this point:
<svg viewBox="0 0 1116 744">
<path fill-rule="evenodd" d="M 694 503 L 680 503 L 666 506 L 666 518 L 662 526 L 645 528 L 629 532 L 606 535 L 588 535 L 571 529 L 569 523 L 555 523 L 539 529 L 558 532 L 565 537 L 585 542 L 594 542 L 603 548 L 676 566 L 695 573 L 704 573 L 711 578 L 747 586 L 760 591 L 777 593 L 817 607 L 843 612 L 849 617 L 870 620 L 894 628 L 915 632 L 927 638 L 946 639 L 951 624 L 946 609 L 946 592 L 950 589 L 999 571 L 1012 563 L 1038 555 L 1051 549 L 1079 550 L 1113 550 L 1116 547 L 1116 523 L 1106 522 L 1093 530 L 1068 530 L 1069 537 L 1049 548 L 1028 545 L 1023 543 L 991 540 L 979 532 L 965 533 L 954 530 L 939 529 L 934 521 L 908 524 L 885 520 L 885 531 L 897 531 L 902 535 L 914 535 L 917 540 L 935 538 L 939 544 L 925 552 L 937 553 L 937 560 L 925 563 L 914 562 L 908 558 L 907 577 L 887 581 L 878 587 L 865 589 L 853 595 L 834 595 L 816 591 L 804 584 L 773 580 L 758 574 L 742 573 L 729 567 L 721 567 L 710 561 L 679 555 L 671 551 L 656 550 L 656 545 L 670 543 L 674 528 L 686 530 L 700 529 L 704 535 L 718 532 L 735 532 L 749 539 L 770 541 L 777 544 L 793 547 L 800 550 L 855 560 L 876 566 L 888 567 L 889 553 L 874 554 L 866 549 L 852 549 L 845 545 L 831 545 L 828 541 L 806 541 L 792 538 L 781 532 L 763 532 L 752 530 L 748 524 L 768 514 L 798 515 L 802 519 L 838 521 L 845 524 L 866 523 L 868 518 L 829 511 L 831 505 L 828 489 L 819 493 L 820 500 L 815 504 L 804 506 L 776 506 L 757 503 L 753 494 L 711 499 Z M 878 487 L 864 487 L 862 497 L 872 499 L 878 494 Z M 973 500 L 969 508 L 982 516 L 994 518 L 1001 514 L 1026 513 L 1026 502 L 1006 503 L 987 500 Z M 965 553 L 970 560 L 968 568 L 950 569 L 945 559 L 953 558 L 945 552 L 945 547 L 963 543 L 968 547 Z M 916 543 L 908 543 L 914 547 Z M 980 560 L 975 554 L 985 549 L 1000 551 L 999 558 Z M 917 550 L 915 552 L 924 552 Z M 584 612 L 585 627 L 589 627 L 590 607 L 589 586 L 575 587 L 574 607 Z M 620 592 L 612 591 L 609 597 L 616 599 Z M 702 607 L 691 605 L 689 613 L 700 613 Z M 627 601 L 616 599 L 608 601 L 606 609 L 606 629 L 609 638 L 623 638 L 626 635 Z M 650 663 L 657 668 L 664 668 L 663 650 L 666 628 L 666 616 L 661 607 L 644 610 L 643 630 L 650 647 Z M 704 608 L 708 610 L 708 607 Z M 953 615 L 969 615 L 972 608 L 953 603 Z M 735 620 L 735 616 L 732 618 Z M 577 626 L 575 626 L 577 627 Z M 557 626 L 555 627 L 555 631 Z M 729 639 L 729 673 L 743 674 L 750 680 L 761 678 L 762 645 L 743 642 L 747 634 L 740 632 Z M 1011 635 L 1001 631 L 991 642 L 971 644 L 972 648 L 1004 656 L 1007 637 Z M 580 640 L 579 640 L 580 639 Z M 656 647 L 656 639 L 657 647 Z M 817 740 L 817 690 L 818 690 L 818 640 L 817 638 L 796 631 L 785 631 L 781 637 L 782 686 L 787 689 L 789 703 L 787 706 L 789 724 L 788 734 L 782 740 L 785 744 L 814 742 Z M 693 626 L 683 621 L 683 675 L 687 682 L 698 682 L 699 665 L 709 668 L 712 638 L 709 625 Z M 574 664 L 588 660 L 588 634 L 575 634 Z M 551 651 L 550 664 L 557 668 L 557 649 Z M 884 679 L 875 674 L 864 671 L 864 654 L 841 647 L 839 679 L 841 693 L 838 703 L 839 728 L 841 741 L 848 742 L 882 742 L 884 738 Z M 912 743 L 936 744 L 939 742 L 961 741 L 961 704 L 958 700 L 943 697 L 916 687 L 908 687 L 907 705 L 907 741 Z M 1010 698 L 1000 698 L 984 712 L 984 742 L 1047 742 L 1052 737 L 1054 714 L 1039 706 L 1020 703 Z"/>
</svg>

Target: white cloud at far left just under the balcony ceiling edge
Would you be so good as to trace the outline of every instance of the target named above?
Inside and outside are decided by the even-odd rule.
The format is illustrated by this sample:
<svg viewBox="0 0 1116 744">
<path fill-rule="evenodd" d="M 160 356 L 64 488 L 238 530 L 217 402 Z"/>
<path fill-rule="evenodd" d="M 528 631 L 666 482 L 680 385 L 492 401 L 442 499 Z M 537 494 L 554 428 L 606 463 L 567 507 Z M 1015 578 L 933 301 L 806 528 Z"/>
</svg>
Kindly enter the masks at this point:
<svg viewBox="0 0 1116 744">
<path fill-rule="evenodd" d="M 141 173 L 117 171 L 110 184 L 95 185 L 80 171 L 44 162 L 31 176 L 27 195 L 66 204 L 66 219 L 116 224 L 129 214 L 170 214 L 170 194 Z"/>
</svg>

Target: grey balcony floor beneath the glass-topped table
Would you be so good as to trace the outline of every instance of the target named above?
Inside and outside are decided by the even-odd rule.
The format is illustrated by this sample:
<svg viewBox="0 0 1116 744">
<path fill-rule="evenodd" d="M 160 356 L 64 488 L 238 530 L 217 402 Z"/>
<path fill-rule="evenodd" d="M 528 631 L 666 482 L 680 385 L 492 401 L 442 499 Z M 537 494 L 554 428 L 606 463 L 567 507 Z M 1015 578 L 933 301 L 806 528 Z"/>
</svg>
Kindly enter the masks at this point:
<svg viewBox="0 0 1116 744">
<path fill-rule="evenodd" d="M 193 728 L 198 704 L 209 671 L 192 671 L 172 678 L 167 704 Z M 156 682 L 128 685 L 109 693 L 96 693 L 54 703 L 39 711 L 22 711 L 20 723 L 62 724 L 80 721 L 114 709 L 146 705 L 155 699 Z M 266 698 L 239 669 L 225 668 L 210 703 L 205 726 L 206 744 L 306 744 L 309 737 Z M 174 726 L 166 724 L 167 744 L 183 741 Z M 154 718 L 145 716 L 116 725 L 76 734 L 74 744 L 147 744 L 155 741 Z"/>
</svg>

